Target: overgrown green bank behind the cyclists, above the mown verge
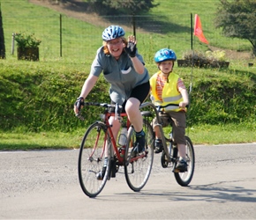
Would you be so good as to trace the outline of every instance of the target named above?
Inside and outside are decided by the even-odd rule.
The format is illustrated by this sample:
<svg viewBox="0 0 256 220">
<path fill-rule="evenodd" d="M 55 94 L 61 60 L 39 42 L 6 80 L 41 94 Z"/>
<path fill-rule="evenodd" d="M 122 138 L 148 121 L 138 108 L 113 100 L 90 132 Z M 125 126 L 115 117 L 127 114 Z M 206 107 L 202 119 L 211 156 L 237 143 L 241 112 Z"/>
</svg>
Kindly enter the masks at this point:
<svg viewBox="0 0 256 220">
<path fill-rule="evenodd" d="M 87 70 L 74 70 L 72 64 L 0 61 L 1 130 L 72 131 L 87 128 L 100 119 L 103 109 L 86 107 L 86 121 L 79 121 L 73 104 Z M 83 65 L 82 65 L 83 66 Z M 29 67 L 29 68 L 28 68 Z M 177 70 L 178 71 L 178 70 Z M 179 75 L 189 84 L 185 70 Z M 226 124 L 255 121 L 256 75 L 240 70 L 194 70 L 187 124 Z M 99 77 L 86 101 L 109 103 L 109 84 Z"/>
</svg>

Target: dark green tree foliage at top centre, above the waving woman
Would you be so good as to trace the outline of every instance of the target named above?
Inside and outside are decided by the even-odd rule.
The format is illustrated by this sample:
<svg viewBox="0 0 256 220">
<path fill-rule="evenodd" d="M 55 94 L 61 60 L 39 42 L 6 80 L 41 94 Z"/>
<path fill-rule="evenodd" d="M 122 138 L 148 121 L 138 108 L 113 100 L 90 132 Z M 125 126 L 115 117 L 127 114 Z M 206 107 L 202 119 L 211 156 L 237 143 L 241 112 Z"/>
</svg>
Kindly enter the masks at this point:
<svg viewBox="0 0 256 220">
<path fill-rule="evenodd" d="M 89 0 L 94 10 L 105 15 L 141 14 L 158 4 L 154 0 Z"/>
</svg>

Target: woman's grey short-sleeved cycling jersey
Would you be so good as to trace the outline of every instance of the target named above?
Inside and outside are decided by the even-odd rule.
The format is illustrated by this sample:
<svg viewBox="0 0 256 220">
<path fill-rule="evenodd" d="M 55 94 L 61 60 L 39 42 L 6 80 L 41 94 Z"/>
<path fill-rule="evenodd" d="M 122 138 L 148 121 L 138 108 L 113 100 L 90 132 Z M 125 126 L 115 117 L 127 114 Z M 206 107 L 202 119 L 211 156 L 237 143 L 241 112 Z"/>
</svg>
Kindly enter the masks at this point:
<svg viewBox="0 0 256 220">
<path fill-rule="evenodd" d="M 140 62 L 144 63 L 141 55 L 136 54 L 136 56 Z M 110 84 L 110 99 L 119 105 L 130 97 L 134 87 L 147 83 L 149 80 L 147 69 L 145 68 L 143 74 L 137 73 L 125 52 L 116 60 L 112 55 L 105 55 L 103 47 L 97 50 L 90 74 L 99 77 L 102 71 Z"/>
</svg>

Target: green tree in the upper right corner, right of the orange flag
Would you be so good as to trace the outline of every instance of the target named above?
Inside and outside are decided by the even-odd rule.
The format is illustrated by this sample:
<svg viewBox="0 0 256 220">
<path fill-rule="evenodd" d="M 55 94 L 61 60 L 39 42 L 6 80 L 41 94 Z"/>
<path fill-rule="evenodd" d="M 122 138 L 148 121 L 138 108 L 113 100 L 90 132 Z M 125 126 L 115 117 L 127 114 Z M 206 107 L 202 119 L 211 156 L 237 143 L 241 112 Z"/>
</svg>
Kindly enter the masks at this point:
<svg viewBox="0 0 256 220">
<path fill-rule="evenodd" d="M 256 1 L 221 0 L 217 8 L 215 26 L 222 28 L 226 37 L 249 40 L 256 56 Z"/>
</svg>

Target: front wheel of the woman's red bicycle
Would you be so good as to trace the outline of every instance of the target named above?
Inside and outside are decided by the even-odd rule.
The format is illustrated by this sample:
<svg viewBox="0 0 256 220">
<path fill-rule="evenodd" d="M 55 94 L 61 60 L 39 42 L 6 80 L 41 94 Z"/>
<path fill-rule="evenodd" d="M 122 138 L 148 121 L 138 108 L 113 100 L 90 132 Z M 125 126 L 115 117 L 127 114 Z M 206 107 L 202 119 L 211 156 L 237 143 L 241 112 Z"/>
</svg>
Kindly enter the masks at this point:
<svg viewBox="0 0 256 220">
<path fill-rule="evenodd" d="M 89 197 L 95 197 L 102 192 L 109 176 L 110 159 L 103 180 L 97 180 L 96 174 L 102 171 L 105 159 L 105 146 L 111 146 L 107 127 L 102 122 L 94 122 L 82 140 L 79 149 L 79 184 Z M 109 155 L 108 155 L 109 158 Z"/>
</svg>

